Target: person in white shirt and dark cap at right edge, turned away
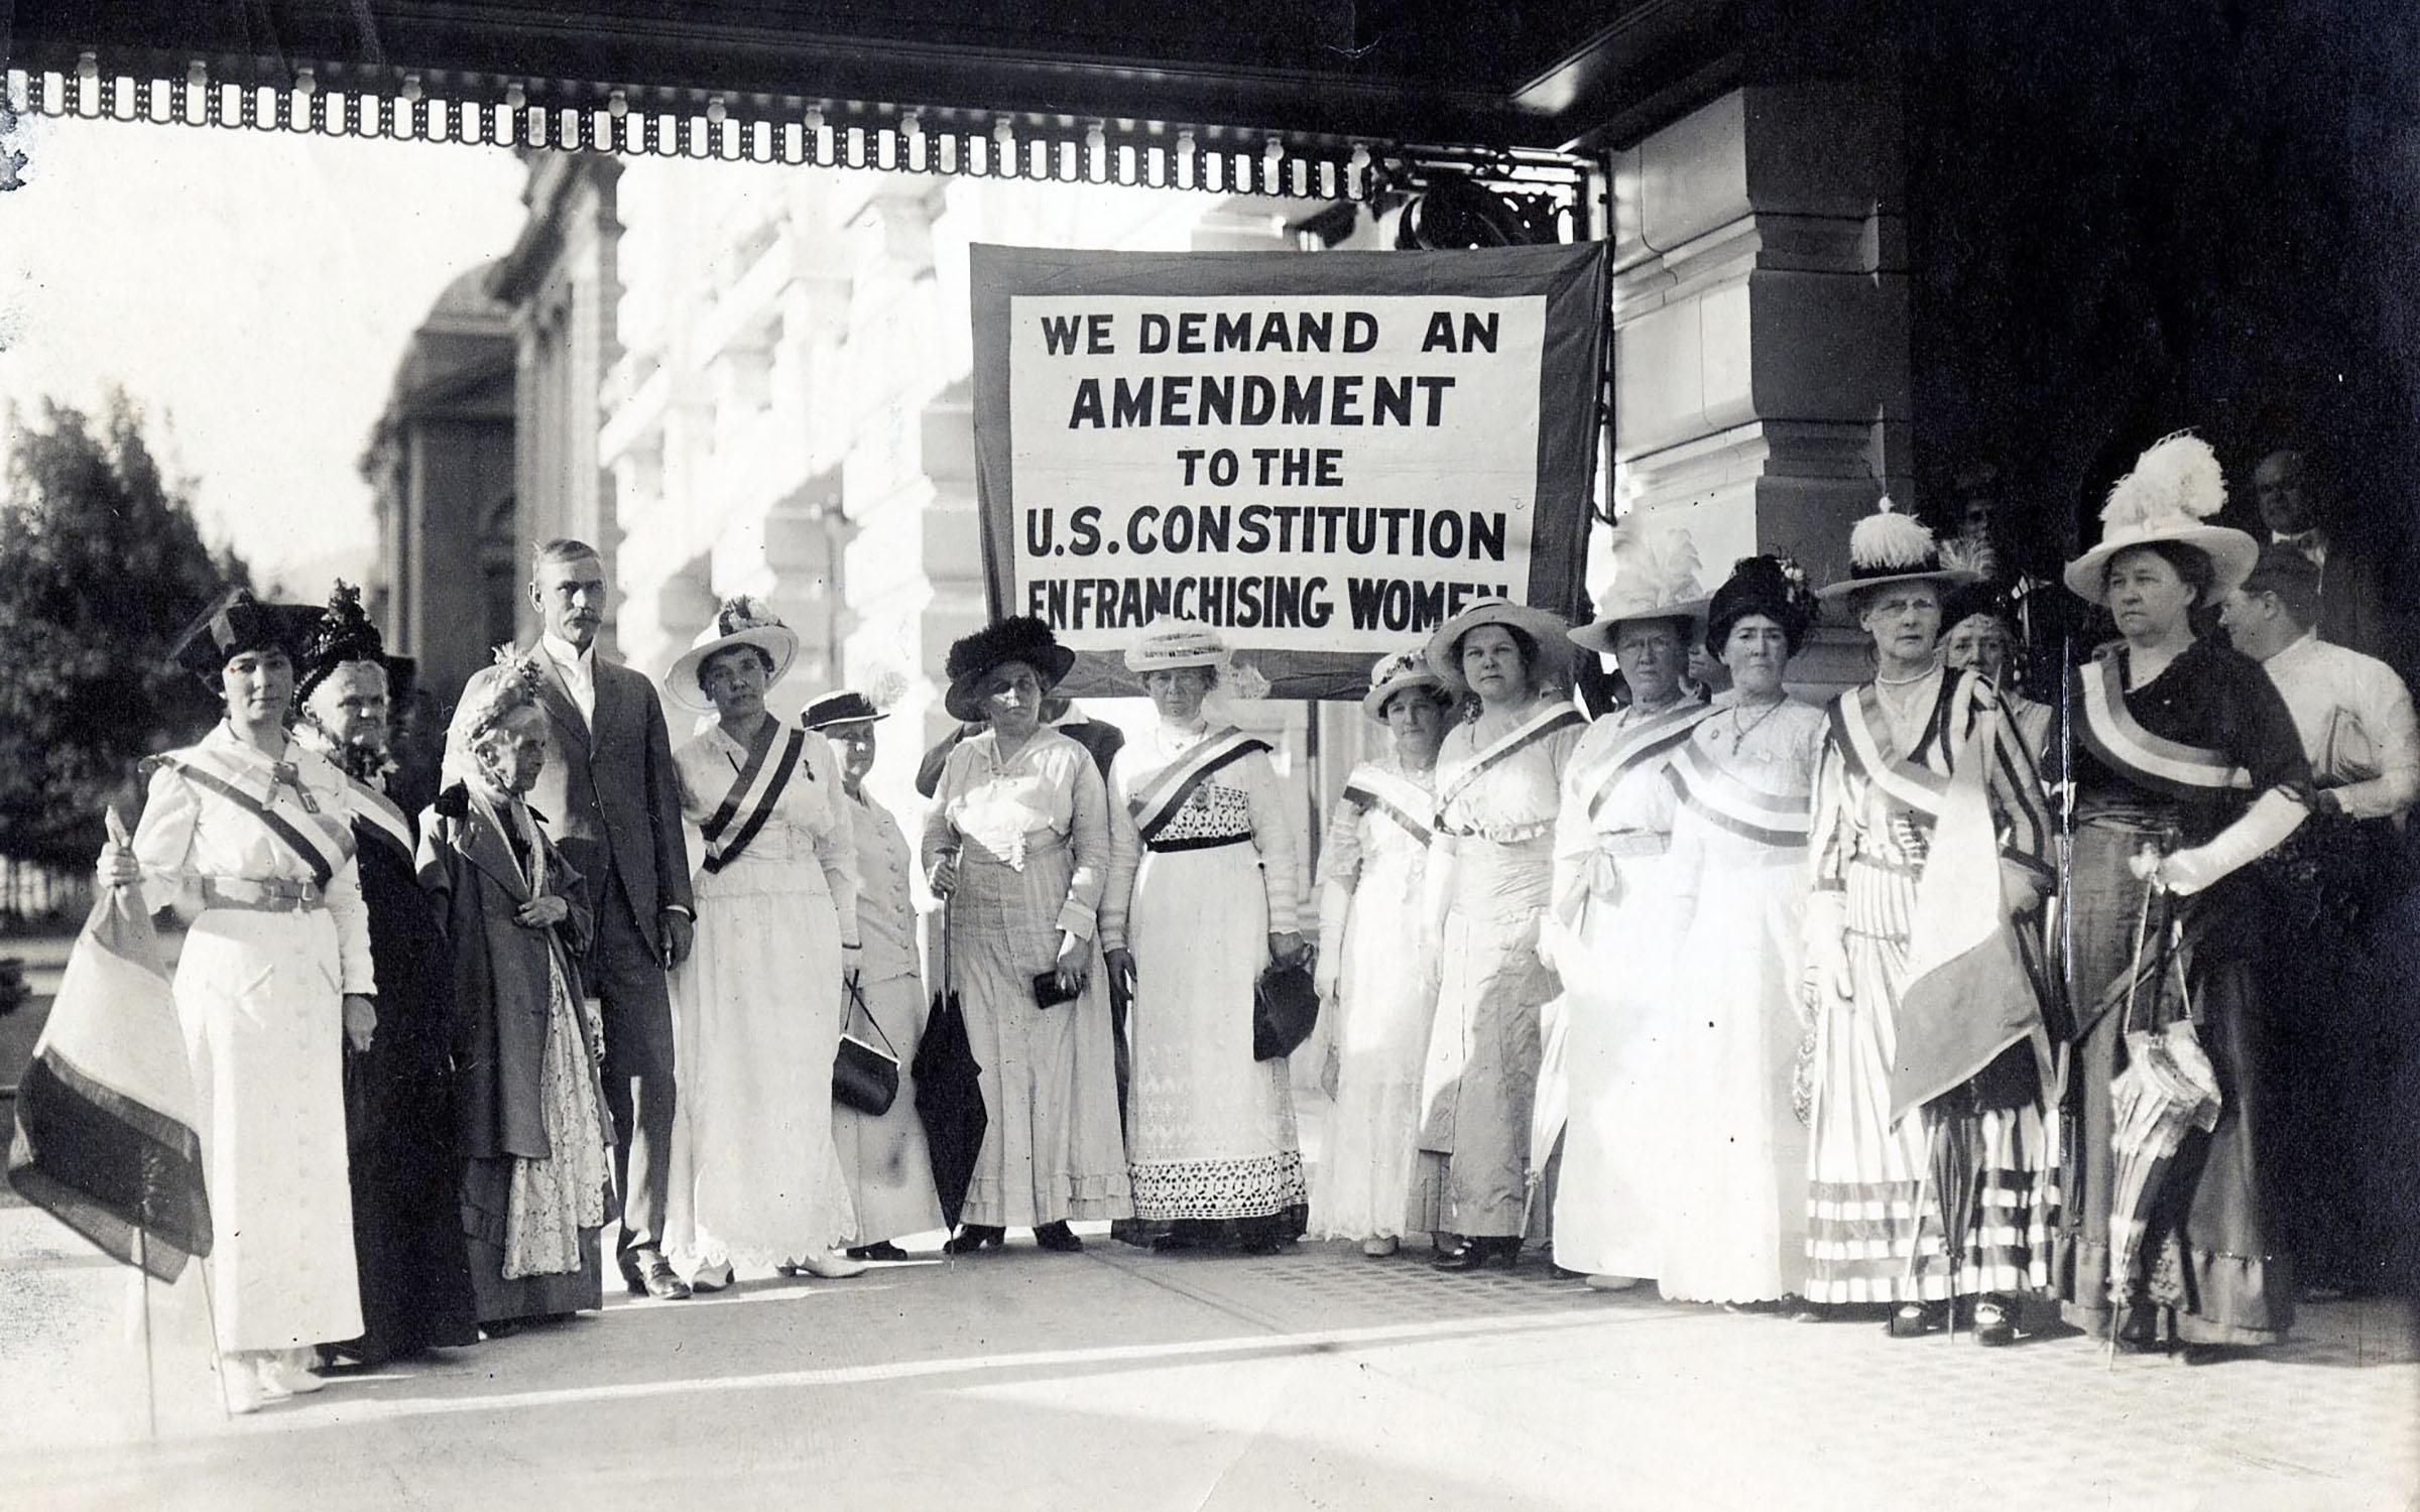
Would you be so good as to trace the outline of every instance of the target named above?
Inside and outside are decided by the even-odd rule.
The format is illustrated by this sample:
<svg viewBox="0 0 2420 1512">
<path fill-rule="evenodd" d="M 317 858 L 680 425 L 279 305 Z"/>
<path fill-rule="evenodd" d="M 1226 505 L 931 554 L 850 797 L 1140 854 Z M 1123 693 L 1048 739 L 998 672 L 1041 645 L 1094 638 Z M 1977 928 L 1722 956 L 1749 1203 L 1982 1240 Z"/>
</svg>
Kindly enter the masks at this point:
<svg viewBox="0 0 2420 1512">
<path fill-rule="evenodd" d="M 2420 798 L 2420 721 L 2393 668 L 2321 641 L 2321 569 L 2289 542 L 2260 549 L 2222 619 L 2277 685 L 2304 755 L 2311 818 L 2265 864 L 2263 1004 L 2287 1093 L 2282 1171 L 2289 1243 L 2309 1302 L 2396 1280 L 2391 1229 L 2410 1207 L 2415 1144 L 2398 1127 L 2410 1086 L 2410 968 L 2396 914 L 2405 810 Z"/>
</svg>

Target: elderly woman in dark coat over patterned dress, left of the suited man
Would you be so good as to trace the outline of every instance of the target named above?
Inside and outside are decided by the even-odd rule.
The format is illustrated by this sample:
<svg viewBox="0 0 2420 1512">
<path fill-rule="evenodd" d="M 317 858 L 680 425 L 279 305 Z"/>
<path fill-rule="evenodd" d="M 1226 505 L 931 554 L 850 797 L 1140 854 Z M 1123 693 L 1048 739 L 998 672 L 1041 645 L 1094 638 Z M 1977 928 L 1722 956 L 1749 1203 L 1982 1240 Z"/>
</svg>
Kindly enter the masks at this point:
<svg viewBox="0 0 2420 1512">
<path fill-rule="evenodd" d="M 593 914 L 525 801 L 547 762 L 542 677 L 511 648 L 472 675 L 445 731 L 448 786 L 421 815 L 421 885 L 453 960 L 462 1229 L 489 1335 L 605 1302 L 605 1031 L 578 973 Z"/>
</svg>

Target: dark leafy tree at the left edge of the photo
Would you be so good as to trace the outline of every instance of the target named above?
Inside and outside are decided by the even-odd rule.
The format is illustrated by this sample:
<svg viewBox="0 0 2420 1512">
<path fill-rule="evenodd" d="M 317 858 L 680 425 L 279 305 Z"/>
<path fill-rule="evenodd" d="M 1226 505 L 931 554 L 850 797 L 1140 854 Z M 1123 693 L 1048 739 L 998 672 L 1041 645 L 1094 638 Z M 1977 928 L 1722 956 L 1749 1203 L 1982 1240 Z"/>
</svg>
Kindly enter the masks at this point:
<svg viewBox="0 0 2420 1512">
<path fill-rule="evenodd" d="M 17 426 L 0 494 L 0 856 L 99 852 L 136 762 L 208 726 L 211 692 L 169 651 L 235 585 L 242 561 L 201 539 L 126 394 L 97 426 L 56 402 Z"/>
</svg>

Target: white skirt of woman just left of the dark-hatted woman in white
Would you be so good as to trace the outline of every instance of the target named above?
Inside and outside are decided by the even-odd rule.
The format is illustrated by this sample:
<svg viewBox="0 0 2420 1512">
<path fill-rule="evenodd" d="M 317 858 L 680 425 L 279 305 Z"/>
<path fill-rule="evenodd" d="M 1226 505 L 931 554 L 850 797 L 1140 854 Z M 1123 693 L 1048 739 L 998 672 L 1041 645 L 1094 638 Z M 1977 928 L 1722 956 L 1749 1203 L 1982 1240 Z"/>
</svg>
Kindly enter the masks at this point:
<svg viewBox="0 0 2420 1512">
<path fill-rule="evenodd" d="M 1590 898 L 1578 958 L 1558 963 L 1571 1016 L 1571 1113 L 1554 1260 L 1592 1275 L 1655 1275 L 1670 1183 L 1663 1081 L 1675 1028 L 1672 910 L 1663 856 L 1621 856 L 1614 876 L 1619 895 Z"/>
</svg>

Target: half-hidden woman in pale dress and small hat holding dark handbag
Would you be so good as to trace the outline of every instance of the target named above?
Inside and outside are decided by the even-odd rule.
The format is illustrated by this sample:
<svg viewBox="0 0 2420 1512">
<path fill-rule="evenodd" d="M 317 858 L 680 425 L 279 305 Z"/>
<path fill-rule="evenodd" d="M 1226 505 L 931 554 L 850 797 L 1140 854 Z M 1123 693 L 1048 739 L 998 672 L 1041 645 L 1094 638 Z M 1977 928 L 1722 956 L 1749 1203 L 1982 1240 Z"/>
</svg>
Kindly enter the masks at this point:
<svg viewBox="0 0 2420 1512">
<path fill-rule="evenodd" d="M 898 1096 L 883 1113 L 832 1103 L 832 1142 L 857 1202 L 852 1260 L 905 1260 L 903 1234 L 941 1227 L 932 1185 L 932 1152 L 915 1110 L 915 1048 L 924 1038 L 924 973 L 915 958 L 915 898 L 908 890 L 908 837 L 891 810 L 866 791 L 874 769 L 874 723 L 888 719 L 862 692 L 828 692 L 806 706 L 801 723 L 840 748 L 840 784 L 857 827 L 857 934 L 864 951 L 849 977 L 849 1033 L 888 1045 L 900 1060 Z M 871 1018 L 871 1026 L 866 1023 Z"/>
</svg>

